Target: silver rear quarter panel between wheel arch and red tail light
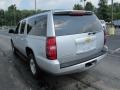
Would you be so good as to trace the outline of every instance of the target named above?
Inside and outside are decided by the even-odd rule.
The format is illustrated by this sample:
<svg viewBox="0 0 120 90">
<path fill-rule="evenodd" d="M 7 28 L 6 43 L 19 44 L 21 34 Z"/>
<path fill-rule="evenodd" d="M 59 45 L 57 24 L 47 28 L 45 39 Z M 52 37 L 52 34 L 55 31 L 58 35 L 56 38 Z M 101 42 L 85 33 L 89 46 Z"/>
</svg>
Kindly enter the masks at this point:
<svg viewBox="0 0 120 90">
<path fill-rule="evenodd" d="M 42 58 L 46 57 L 46 37 L 40 36 L 27 36 L 27 47 L 33 50 L 35 57 L 40 56 Z"/>
</svg>

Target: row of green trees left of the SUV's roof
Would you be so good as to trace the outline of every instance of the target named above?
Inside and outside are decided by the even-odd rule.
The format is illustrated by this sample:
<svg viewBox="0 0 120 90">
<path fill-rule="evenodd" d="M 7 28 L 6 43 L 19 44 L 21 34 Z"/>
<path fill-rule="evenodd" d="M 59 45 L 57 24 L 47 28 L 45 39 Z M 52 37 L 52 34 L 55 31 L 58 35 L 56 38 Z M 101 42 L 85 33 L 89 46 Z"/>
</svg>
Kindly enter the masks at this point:
<svg viewBox="0 0 120 90">
<path fill-rule="evenodd" d="M 37 10 L 40 13 L 41 10 Z M 10 5 L 8 10 L 0 9 L 0 26 L 13 26 L 28 16 L 36 14 L 34 10 L 18 10 L 16 5 Z"/>
</svg>

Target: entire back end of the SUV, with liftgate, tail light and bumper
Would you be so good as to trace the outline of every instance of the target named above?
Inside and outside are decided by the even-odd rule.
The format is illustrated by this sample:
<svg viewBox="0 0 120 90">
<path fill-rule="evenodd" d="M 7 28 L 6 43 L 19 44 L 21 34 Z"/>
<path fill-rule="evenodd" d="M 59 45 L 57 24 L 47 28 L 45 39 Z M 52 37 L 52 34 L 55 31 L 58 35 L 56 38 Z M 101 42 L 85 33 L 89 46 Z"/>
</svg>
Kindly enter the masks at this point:
<svg viewBox="0 0 120 90">
<path fill-rule="evenodd" d="M 44 70 L 56 75 L 80 72 L 106 56 L 105 34 L 92 12 L 52 12 L 48 24 L 46 59 L 37 60 Z"/>
</svg>

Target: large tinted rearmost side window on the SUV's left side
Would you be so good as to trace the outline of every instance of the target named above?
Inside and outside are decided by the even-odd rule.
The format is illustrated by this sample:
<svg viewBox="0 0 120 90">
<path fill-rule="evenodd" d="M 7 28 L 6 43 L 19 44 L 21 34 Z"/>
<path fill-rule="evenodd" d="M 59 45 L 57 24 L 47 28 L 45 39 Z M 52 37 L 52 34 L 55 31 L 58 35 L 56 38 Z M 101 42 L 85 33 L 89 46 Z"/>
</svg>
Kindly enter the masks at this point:
<svg viewBox="0 0 120 90">
<path fill-rule="evenodd" d="M 31 18 L 27 25 L 27 33 L 36 36 L 46 36 L 47 15 Z"/>
</svg>

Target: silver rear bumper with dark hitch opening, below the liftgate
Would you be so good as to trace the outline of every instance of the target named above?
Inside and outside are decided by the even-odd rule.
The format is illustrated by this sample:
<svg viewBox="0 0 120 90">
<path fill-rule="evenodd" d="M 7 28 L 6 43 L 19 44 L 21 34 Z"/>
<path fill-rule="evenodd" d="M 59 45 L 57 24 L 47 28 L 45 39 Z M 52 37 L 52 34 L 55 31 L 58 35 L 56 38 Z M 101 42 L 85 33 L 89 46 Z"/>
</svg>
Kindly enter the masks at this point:
<svg viewBox="0 0 120 90">
<path fill-rule="evenodd" d="M 58 60 L 50 61 L 47 59 L 42 59 L 40 57 L 37 57 L 36 59 L 39 67 L 42 68 L 43 70 L 54 75 L 64 75 L 81 72 L 95 66 L 107 55 L 107 47 L 104 49 L 104 51 L 105 51 L 104 54 L 97 56 L 96 58 L 65 68 L 61 68 L 61 65 Z"/>
</svg>

